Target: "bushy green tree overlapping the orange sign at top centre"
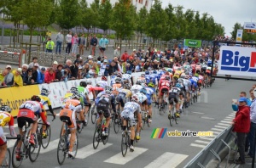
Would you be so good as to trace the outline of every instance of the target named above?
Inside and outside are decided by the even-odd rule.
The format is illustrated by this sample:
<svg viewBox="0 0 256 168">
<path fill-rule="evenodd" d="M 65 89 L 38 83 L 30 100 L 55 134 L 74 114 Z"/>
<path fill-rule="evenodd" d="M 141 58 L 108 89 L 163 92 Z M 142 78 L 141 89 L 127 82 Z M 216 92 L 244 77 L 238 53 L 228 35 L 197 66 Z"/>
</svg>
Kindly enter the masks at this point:
<svg viewBox="0 0 256 168">
<path fill-rule="evenodd" d="M 113 31 L 121 42 L 125 36 L 130 37 L 135 30 L 136 10 L 131 0 L 119 0 L 113 7 Z"/>
</svg>

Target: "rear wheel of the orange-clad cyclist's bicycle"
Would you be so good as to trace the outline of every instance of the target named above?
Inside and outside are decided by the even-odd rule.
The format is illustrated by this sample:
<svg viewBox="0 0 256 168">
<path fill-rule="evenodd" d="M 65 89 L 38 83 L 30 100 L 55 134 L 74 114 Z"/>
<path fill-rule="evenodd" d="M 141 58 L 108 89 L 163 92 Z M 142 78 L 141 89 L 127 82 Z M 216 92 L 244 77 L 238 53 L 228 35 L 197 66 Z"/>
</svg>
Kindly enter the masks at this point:
<svg viewBox="0 0 256 168">
<path fill-rule="evenodd" d="M 64 163 L 64 160 L 66 159 L 67 156 L 67 143 L 66 143 L 66 136 L 67 134 L 64 134 L 61 136 L 59 143 L 58 143 L 58 148 L 57 148 L 57 160 L 60 165 Z"/>
</svg>

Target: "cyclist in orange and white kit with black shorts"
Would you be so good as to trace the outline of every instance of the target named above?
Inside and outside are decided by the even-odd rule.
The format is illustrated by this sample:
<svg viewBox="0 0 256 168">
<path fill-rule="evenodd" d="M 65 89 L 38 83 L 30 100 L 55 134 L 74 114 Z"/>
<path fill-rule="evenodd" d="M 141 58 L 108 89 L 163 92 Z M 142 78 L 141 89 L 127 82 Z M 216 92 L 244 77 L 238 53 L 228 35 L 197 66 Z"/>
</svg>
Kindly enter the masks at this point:
<svg viewBox="0 0 256 168">
<path fill-rule="evenodd" d="M 77 123 L 76 123 L 76 113 L 82 110 L 82 105 L 80 103 L 80 94 L 74 93 L 72 99 L 67 100 L 65 104 L 61 107 L 60 113 L 60 120 L 64 121 L 67 120 L 67 126 L 70 130 L 70 139 L 69 139 L 69 151 L 68 155 L 73 158 L 73 144 L 76 141 L 76 130 L 77 130 Z M 64 123 L 62 124 L 62 127 Z M 63 127 L 64 128 L 64 127 Z M 65 128 L 62 129 L 61 135 L 66 132 Z"/>
</svg>

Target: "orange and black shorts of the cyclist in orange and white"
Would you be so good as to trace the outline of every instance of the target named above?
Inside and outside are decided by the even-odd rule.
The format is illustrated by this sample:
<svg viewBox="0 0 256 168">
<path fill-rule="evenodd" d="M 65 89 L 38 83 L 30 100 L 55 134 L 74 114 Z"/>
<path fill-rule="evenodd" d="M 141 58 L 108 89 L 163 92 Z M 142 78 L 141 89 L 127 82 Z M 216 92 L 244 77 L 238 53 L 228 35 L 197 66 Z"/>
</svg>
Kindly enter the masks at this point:
<svg viewBox="0 0 256 168">
<path fill-rule="evenodd" d="M 63 122 L 67 120 L 67 126 L 70 129 L 77 128 L 76 114 L 71 109 L 61 109 L 60 120 Z"/>
</svg>

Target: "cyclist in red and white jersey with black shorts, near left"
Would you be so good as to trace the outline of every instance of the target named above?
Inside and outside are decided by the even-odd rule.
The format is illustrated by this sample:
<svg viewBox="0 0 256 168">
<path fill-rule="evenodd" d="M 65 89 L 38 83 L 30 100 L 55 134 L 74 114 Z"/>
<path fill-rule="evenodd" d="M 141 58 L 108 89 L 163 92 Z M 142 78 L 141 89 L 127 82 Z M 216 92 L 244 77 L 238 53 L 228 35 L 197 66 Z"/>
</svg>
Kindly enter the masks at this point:
<svg viewBox="0 0 256 168">
<path fill-rule="evenodd" d="M 28 100 L 25 103 L 20 105 L 19 112 L 17 115 L 17 122 L 18 122 L 18 127 L 19 127 L 21 136 L 24 136 L 24 132 L 22 132 L 22 127 L 26 126 L 26 122 L 28 124 L 32 124 L 31 132 L 30 132 L 31 136 L 29 139 L 29 143 L 31 143 L 32 145 L 35 144 L 34 134 L 36 133 L 38 128 L 37 115 L 40 115 L 44 124 L 49 126 L 49 122 L 47 122 L 46 117 L 44 115 L 43 104 L 41 104 L 40 102 L 41 102 L 41 99 L 37 95 L 32 96 L 31 100 Z M 20 140 L 16 148 L 16 160 L 20 160 L 21 143 L 22 141 Z"/>
</svg>

